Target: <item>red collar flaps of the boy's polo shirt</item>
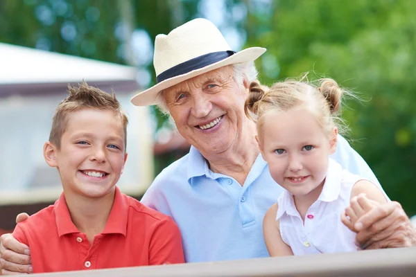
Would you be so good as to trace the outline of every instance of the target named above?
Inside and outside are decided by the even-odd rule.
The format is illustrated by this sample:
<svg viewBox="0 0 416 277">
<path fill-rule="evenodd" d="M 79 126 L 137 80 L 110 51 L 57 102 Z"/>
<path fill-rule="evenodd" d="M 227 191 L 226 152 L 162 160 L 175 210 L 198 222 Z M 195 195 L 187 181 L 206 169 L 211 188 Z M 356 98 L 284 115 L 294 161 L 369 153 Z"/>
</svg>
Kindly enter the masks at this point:
<svg viewBox="0 0 416 277">
<path fill-rule="evenodd" d="M 116 187 L 110 216 L 108 217 L 107 224 L 105 224 L 105 229 L 102 233 L 120 233 L 125 235 L 127 231 L 128 210 L 129 203 L 127 196 L 123 195 L 119 188 Z M 53 211 L 55 213 L 59 236 L 70 233 L 80 233 L 71 220 L 64 193 L 62 193 L 60 198 L 55 202 Z"/>
</svg>

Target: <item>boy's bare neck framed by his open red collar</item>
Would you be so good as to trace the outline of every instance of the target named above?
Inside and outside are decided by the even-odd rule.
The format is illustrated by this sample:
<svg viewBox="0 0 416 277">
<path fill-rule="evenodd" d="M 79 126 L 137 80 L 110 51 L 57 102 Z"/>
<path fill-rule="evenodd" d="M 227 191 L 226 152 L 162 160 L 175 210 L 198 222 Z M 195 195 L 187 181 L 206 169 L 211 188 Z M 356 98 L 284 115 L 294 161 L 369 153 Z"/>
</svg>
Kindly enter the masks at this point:
<svg viewBox="0 0 416 277">
<path fill-rule="evenodd" d="M 114 203 L 115 188 L 103 197 L 92 198 L 64 192 L 71 220 L 76 228 L 87 235 L 92 244 L 94 236 L 102 233 Z"/>
</svg>

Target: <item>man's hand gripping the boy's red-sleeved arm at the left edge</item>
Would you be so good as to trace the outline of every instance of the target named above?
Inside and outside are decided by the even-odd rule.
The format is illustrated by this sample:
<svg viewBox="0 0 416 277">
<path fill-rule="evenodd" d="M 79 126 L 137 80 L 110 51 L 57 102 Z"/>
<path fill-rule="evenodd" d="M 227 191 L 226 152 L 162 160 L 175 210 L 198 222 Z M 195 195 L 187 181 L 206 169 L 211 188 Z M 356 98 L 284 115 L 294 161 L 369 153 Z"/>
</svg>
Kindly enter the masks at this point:
<svg viewBox="0 0 416 277">
<path fill-rule="evenodd" d="M 20 213 L 16 217 L 16 223 L 28 218 L 27 213 Z M 12 275 L 32 273 L 31 251 L 25 244 L 21 244 L 12 234 L 4 234 L 0 237 L 0 275 Z"/>
</svg>

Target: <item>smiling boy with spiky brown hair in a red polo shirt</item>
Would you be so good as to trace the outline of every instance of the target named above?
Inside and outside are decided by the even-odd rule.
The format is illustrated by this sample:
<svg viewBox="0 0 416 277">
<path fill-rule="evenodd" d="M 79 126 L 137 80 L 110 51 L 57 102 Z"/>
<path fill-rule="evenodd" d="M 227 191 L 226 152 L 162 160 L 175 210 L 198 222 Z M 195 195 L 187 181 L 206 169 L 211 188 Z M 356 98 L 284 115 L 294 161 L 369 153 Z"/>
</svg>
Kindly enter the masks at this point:
<svg viewBox="0 0 416 277">
<path fill-rule="evenodd" d="M 128 119 L 112 95 L 69 87 L 55 110 L 44 159 L 64 192 L 54 205 L 17 224 L 34 273 L 184 262 L 171 217 L 120 193 Z"/>
</svg>

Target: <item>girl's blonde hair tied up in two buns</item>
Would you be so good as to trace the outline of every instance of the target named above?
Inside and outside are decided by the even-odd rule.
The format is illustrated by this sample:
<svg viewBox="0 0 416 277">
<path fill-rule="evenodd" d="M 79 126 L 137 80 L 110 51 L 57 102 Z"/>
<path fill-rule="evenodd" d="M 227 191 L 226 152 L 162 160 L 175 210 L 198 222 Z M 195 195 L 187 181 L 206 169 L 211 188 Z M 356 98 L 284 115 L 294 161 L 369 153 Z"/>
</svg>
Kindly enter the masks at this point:
<svg viewBox="0 0 416 277">
<path fill-rule="evenodd" d="M 315 115 L 328 135 L 334 127 L 338 127 L 338 132 L 342 134 L 347 131 L 345 123 L 339 117 L 344 93 L 350 94 L 329 78 L 318 80 L 316 85 L 311 82 L 286 80 L 277 82 L 270 88 L 254 81 L 250 83 L 250 93 L 245 101 L 245 114 L 257 123 L 257 132 L 261 136 L 265 114 L 305 107 Z"/>
</svg>

